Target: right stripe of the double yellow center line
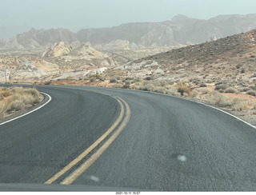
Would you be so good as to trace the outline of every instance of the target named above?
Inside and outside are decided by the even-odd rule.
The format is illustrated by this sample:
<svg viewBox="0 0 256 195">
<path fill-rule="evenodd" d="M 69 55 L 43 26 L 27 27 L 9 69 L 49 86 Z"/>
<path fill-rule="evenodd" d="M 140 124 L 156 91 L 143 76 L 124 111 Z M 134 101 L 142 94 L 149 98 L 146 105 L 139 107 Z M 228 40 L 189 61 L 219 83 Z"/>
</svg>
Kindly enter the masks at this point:
<svg viewBox="0 0 256 195">
<path fill-rule="evenodd" d="M 100 149 L 97 150 L 97 152 L 95 152 L 87 161 L 80 165 L 78 169 L 75 169 L 74 172 L 70 174 L 70 176 L 66 177 L 66 179 L 61 182 L 62 185 L 72 184 L 82 173 L 86 171 L 86 169 L 90 167 L 90 165 L 94 163 L 94 161 L 98 159 L 98 157 L 102 155 L 102 153 L 110 146 L 110 144 L 115 140 L 115 138 L 118 137 L 119 133 L 122 132 L 122 129 L 125 128 L 126 124 L 130 120 L 130 107 L 126 103 L 126 101 L 123 102 L 126 105 L 126 117 L 122 121 L 122 124 L 119 126 L 118 130 L 102 145 Z"/>
</svg>

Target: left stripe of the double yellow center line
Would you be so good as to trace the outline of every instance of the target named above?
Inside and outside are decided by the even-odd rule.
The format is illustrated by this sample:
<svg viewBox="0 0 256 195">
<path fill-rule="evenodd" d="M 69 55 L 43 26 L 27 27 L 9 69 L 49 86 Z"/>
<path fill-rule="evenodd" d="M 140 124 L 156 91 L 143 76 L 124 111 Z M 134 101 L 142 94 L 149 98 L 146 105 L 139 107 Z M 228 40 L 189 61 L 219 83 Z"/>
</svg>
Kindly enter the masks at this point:
<svg viewBox="0 0 256 195">
<path fill-rule="evenodd" d="M 88 153 L 90 153 L 102 140 L 104 140 L 113 130 L 114 128 L 120 123 L 122 120 L 122 117 L 124 115 L 124 109 L 121 101 L 119 101 L 117 98 L 115 98 L 119 105 L 121 106 L 121 112 L 118 117 L 118 119 L 114 122 L 114 124 L 102 135 L 102 137 L 99 137 L 97 141 L 95 141 L 88 149 L 86 149 L 83 153 L 81 153 L 77 158 L 74 159 L 74 161 L 71 161 L 70 164 L 66 165 L 62 170 L 60 170 L 58 173 L 56 173 L 53 177 L 51 177 L 49 180 L 45 182 L 45 184 L 51 184 L 54 181 L 58 179 L 58 177 L 61 177 L 66 171 L 71 169 L 74 165 L 76 165 L 79 161 L 82 160 L 82 158 L 86 157 Z"/>
</svg>

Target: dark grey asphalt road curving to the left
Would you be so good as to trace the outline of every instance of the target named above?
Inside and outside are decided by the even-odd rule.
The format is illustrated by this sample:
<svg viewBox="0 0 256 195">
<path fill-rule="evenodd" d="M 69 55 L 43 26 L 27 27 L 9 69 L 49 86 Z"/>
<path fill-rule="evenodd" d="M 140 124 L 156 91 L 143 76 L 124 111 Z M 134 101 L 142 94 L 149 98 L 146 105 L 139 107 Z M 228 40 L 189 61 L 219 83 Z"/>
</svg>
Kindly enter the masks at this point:
<svg viewBox="0 0 256 195">
<path fill-rule="evenodd" d="M 74 181 L 69 181 L 74 185 L 256 191 L 256 129 L 226 113 L 133 90 L 38 90 L 52 101 L 0 125 L 0 183 L 68 184 L 73 174 Z M 72 162 L 116 121 L 100 144 Z M 72 167 L 63 170 L 70 162 Z M 77 174 L 78 169 L 82 171 Z"/>
</svg>

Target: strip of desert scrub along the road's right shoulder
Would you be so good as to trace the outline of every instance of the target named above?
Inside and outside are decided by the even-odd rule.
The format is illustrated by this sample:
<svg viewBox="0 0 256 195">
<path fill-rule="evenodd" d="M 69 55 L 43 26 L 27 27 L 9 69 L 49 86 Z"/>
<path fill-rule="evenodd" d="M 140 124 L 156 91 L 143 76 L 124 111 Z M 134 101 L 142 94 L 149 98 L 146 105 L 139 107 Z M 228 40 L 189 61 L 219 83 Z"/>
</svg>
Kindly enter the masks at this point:
<svg viewBox="0 0 256 195">
<path fill-rule="evenodd" d="M 145 90 L 161 94 L 169 94 L 192 98 L 194 100 L 203 101 L 208 105 L 215 105 L 221 108 L 233 111 L 246 112 L 256 109 L 256 100 L 251 98 L 256 96 L 253 83 L 238 82 L 237 85 L 230 82 L 209 82 L 199 78 L 182 81 L 174 79 L 154 80 L 147 78 L 123 79 L 112 78 L 111 84 L 116 88 Z M 210 83 L 210 84 L 206 84 Z M 248 96 L 250 95 L 250 96 Z M 251 98 L 249 98 L 251 97 Z"/>
</svg>

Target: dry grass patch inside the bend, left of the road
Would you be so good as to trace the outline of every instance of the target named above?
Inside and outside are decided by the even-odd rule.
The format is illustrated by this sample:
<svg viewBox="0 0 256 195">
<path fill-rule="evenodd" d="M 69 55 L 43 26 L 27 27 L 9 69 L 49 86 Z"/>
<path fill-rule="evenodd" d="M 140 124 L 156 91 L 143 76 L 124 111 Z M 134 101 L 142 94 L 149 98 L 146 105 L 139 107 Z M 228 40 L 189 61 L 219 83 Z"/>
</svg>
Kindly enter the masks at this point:
<svg viewBox="0 0 256 195">
<path fill-rule="evenodd" d="M 38 90 L 23 89 L 22 87 L 1 89 L 0 94 L 5 94 L 0 101 L 0 118 L 35 105 L 41 99 Z"/>
</svg>

